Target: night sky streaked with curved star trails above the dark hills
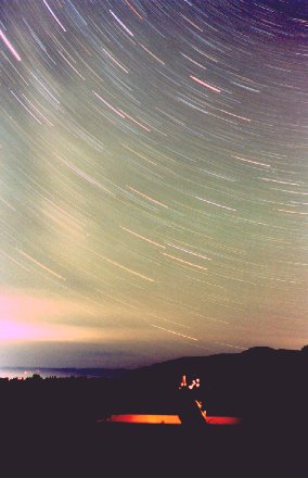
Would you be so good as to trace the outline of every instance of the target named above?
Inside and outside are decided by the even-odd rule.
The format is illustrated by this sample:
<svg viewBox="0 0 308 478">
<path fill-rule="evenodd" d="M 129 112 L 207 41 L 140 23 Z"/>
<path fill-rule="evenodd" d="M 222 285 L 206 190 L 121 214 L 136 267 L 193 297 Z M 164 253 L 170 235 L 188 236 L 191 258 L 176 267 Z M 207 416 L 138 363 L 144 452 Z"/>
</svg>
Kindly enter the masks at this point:
<svg viewBox="0 0 308 478">
<path fill-rule="evenodd" d="M 0 364 L 307 344 L 307 3 L 0 20 Z"/>
</svg>

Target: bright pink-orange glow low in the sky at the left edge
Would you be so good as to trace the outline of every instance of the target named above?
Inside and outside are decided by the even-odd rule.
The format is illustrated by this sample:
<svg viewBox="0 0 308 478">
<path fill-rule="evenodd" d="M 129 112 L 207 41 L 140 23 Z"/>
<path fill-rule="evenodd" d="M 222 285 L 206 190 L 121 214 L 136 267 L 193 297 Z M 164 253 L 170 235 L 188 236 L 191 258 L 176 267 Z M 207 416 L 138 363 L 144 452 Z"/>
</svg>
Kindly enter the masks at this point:
<svg viewBox="0 0 308 478">
<path fill-rule="evenodd" d="M 2 292 L 2 293 L 1 293 Z M 110 310 L 105 313 L 111 313 Z M 78 320 L 74 322 L 74 317 Z M 85 318 L 85 326 L 81 319 Z M 101 310 L 74 298 L 0 290 L 0 343 L 21 341 L 100 342 L 126 340 L 117 328 L 95 327 Z M 69 323 L 72 318 L 72 322 Z M 94 325 L 93 325 L 94 323 Z"/>
</svg>

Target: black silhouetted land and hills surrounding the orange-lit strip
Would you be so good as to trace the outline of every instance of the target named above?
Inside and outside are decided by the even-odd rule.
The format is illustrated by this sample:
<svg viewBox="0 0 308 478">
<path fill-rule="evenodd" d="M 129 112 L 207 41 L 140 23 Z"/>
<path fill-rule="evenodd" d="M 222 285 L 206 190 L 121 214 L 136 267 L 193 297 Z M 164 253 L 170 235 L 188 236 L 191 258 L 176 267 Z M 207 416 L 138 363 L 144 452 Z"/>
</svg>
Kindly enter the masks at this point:
<svg viewBox="0 0 308 478">
<path fill-rule="evenodd" d="M 0 477 L 308 478 L 307 372 L 307 347 L 257 348 L 117 379 L 0 380 Z M 111 414 L 183 412 L 182 374 L 201 377 L 192 399 L 209 416 L 243 424 L 98 423 Z"/>
</svg>

